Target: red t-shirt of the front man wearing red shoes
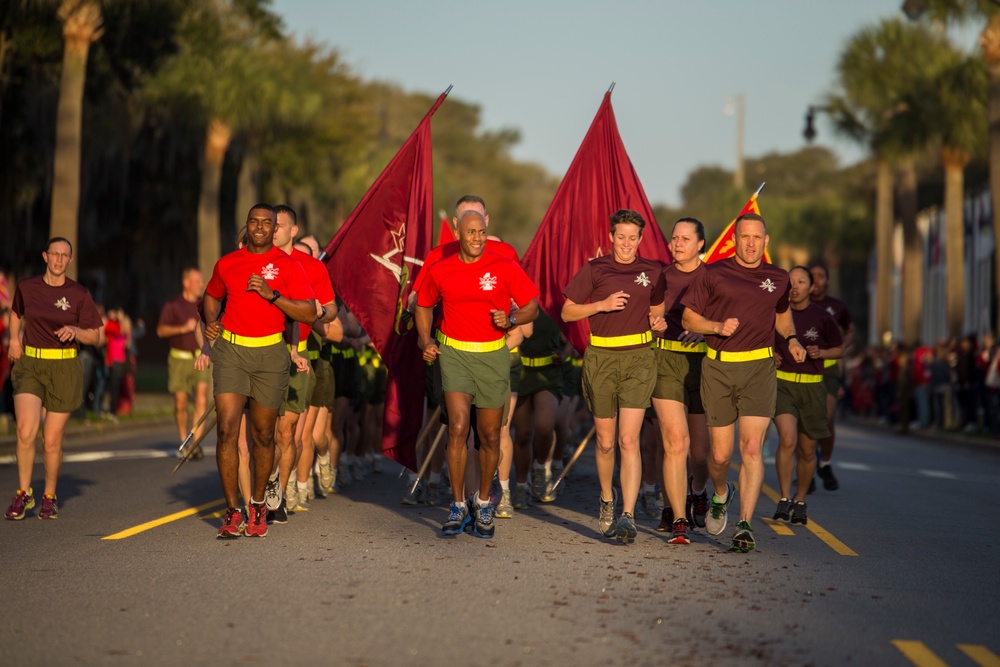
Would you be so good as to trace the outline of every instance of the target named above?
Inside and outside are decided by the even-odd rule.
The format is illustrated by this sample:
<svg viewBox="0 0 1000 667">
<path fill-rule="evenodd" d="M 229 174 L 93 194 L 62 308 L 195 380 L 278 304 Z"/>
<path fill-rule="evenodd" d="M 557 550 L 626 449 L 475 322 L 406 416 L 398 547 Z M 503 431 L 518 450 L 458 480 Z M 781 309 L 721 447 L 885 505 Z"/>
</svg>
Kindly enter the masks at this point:
<svg viewBox="0 0 1000 667">
<path fill-rule="evenodd" d="M 247 281 L 254 273 L 262 276 L 272 290 L 290 299 L 313 298 L 302 266 L 275 247 L 261 255 L 246 248 L 223 255 L 215 263 L 205 293 L 219 301 L 226 299 L 222 314 L 226 331 L 254 338 L 281 333 L 285 330 L 281 309 L 256 292 L 247 291 Z"/>
</svg>

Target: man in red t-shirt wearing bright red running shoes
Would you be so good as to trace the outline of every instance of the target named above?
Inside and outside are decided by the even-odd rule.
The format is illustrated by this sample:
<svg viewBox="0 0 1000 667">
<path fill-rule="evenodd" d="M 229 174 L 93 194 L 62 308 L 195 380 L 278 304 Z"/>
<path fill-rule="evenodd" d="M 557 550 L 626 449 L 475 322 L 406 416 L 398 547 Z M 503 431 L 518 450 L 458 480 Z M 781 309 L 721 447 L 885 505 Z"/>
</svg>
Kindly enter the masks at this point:
<svg viewBox="0 0 1000 667">
<path fill-rule="evenodd" d="M 215 458 L 228 508 L 220 538 L 239 537 L 244 529 L 251 536 L 267 534 L 264 489 L 274 468 L 274 424 L 288 384 L 285 317 L 309 324 L 316 320 L 309 282 L 299 263 L 274 247 L 274 225 L 270 205 L 251 208 L 247 246 L 219 259 L 205 288 L 205 337 L 215 341 L 211 353 L 218 415 Z M 237 497 L 237 442 L 248 398 L 254 471 L 244 516 Z"/>
</svg>

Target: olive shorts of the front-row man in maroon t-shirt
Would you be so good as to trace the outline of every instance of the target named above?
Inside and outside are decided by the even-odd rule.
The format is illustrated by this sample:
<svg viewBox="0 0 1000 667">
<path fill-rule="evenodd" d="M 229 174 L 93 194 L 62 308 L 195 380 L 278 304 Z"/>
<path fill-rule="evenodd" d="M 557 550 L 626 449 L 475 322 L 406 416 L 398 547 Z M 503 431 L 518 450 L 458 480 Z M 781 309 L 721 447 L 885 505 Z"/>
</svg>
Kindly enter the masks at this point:
<svg viewBox="0 0 1000 667">
<path fill-rule="evenodd" d="M 777 392 L 774 359 L 701 362 L 701 402 L 709 426 L 728 426 L 737 417 L 774 418 Z"/>
</svg>

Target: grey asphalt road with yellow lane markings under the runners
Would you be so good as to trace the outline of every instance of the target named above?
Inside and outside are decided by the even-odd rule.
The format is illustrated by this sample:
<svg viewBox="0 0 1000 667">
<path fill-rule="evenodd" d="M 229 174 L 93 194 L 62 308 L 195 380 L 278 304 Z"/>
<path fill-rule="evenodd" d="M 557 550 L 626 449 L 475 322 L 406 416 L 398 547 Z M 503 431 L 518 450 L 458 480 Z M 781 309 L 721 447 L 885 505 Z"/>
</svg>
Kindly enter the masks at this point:
<svg viewBox="0 0 1000 667">
<path fill-rule="evenodd" d="M 591 455 L 492 540 L 442 537 L 446 509 L 400 505 L 395 467 L 266 538 L 217 540 L 214 461 L 172 475 L 175 438 L 76 441 L 59 520 L 0 522 L 0 663 L 1000 664 L 988 446 L 843 426 L 841 489 L 810 496 L 809 529 L 772 527 L 762 497 L 741 555 L 732 528 L 676 546 L 640 519 L 636 543 L 601 539 Z M 9 461 L 0 480 L 16 487 Z"/>
</svg>

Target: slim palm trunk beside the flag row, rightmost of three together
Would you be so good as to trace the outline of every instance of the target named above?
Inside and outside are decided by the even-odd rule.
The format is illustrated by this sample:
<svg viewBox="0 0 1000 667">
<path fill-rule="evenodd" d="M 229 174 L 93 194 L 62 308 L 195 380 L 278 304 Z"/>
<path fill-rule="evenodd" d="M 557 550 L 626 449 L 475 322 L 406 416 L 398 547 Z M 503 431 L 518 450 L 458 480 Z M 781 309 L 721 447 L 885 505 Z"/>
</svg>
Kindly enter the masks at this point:
<svg viewBox="0 0 1000 667">
<path fill-rule="evenodd" d="M 958 340 L 965 332 L 965 220 L 962 197 L 965 192 L 965 166 L 969 155 L 965 151 L 943 148 L 944 165 L 944 229 L 945 229 L 945 303 L 948 314 L 948 336 Z"/>
</svg>

